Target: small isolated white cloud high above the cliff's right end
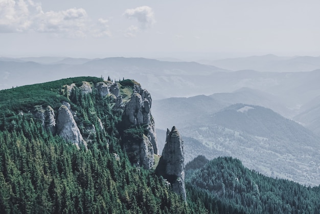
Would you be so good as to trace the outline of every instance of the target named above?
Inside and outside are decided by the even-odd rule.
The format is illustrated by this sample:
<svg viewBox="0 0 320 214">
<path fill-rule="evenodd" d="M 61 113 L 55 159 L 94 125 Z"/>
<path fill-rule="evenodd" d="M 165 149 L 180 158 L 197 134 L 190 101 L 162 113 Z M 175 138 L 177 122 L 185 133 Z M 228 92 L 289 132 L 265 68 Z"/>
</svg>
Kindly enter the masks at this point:
<svg viewBox="0 0 320 214">
<path fill-rule="evenodd" d="M 141 29 L 151 28 L 155 23 L 152 8 L 148 6 L 127 9 L 124 15 L 130 19 L 137 19 Z"/>
</svg>

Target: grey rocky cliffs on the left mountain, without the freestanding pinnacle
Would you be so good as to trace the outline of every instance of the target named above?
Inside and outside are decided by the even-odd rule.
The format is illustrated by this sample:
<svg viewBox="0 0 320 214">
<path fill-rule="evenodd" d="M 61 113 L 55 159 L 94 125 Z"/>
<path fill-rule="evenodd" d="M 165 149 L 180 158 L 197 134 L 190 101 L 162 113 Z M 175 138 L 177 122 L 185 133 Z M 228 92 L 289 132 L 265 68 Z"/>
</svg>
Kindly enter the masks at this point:
<svg viewBox="0 0 320 214">
<path fill-rule="evenodd" d="M 86 100 L 90 99 L 88 96 L 97 94 L 97 99 L 108 103 L 105 105 L 112 106 L 113 115 L 120 114 L 122 117 L 117 132 L 120 133 L 119 138 L 122 139 L 122 145 L 131 163 L 146 169 L 153 167 L 158 147 L 154 120 L 151 116 L 152 99 L 150 93 L 142 89 L 138 82 L 80 81 L 63 85 L 62 89 L 70 102 L 62 101 L 56 110 L 50 105 L 37 105 L 34 108 L 34 117 L 41 121 L 46 130 L 73 142 L 78 148 L 80 145 L 87 147 L 87 144 L 94 143 L 99 132 L 106 133 L 104 125 L 93 109 L 94 106 L 89 107 L 89 103 L 86 103 Z M 76 101 L 77 99 L 81 99 L 80 102 Z M 81 110 L 78 105 L 82 102 L 86 106 L 81 106 Z M 72 106 L 78 110 L 72 109 Z M 90 119 L 88 114 L 91 114 Z"/>
</svg>

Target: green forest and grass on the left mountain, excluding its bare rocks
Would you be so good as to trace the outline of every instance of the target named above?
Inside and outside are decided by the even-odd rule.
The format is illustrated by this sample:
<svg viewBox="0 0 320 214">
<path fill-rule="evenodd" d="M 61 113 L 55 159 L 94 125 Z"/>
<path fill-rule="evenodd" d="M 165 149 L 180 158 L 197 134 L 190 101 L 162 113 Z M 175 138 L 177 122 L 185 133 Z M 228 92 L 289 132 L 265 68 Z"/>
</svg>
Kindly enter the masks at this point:
<svg viewBox="0 0 320 214">
<path fill-rule="evenodd" d="M 119 132 L 140 138 L 144 128 L 123 130 L 112 96 L 101 98 L 94 87 L 81 93 L 82 81 L 103 80 L 69 78 L 0 91 L 0 213 L 205 213 L 196 200 L 181 200 L 154 170 L 131 165 Z M 78 88 L 68 96 L 63 85 L 72 83 Z M 134 83 L 118 83 L 123 99 Z M 87 149 L 45 130 L 32 114 L 35 105 L 56 112 L 63 101 L 80 130 L 95 126 Z"/>
</svg>

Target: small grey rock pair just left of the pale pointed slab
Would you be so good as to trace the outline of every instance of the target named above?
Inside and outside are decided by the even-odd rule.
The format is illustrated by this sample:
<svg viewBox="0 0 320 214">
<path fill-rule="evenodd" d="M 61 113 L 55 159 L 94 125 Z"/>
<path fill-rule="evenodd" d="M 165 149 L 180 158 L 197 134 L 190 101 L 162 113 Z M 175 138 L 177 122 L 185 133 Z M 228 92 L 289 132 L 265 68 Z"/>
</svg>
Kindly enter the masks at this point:
<svg viewBox="0 0 320 214">
<path fill-rule="evenodd" d="M 56 133 L 56 120 L 55 113 L 50 105 L 42 108 L 42 105 L 34 107 L 33 115 L 36 119 L 41 121 L 45 130 L 50 131 L 52 134 Z"/>
</svg>

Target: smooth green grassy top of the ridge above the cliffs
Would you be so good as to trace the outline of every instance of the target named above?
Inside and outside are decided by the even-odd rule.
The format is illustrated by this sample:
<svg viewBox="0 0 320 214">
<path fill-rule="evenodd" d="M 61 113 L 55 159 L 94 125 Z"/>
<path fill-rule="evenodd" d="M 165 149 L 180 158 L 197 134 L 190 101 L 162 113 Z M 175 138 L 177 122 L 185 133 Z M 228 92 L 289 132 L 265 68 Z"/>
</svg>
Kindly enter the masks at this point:
<svg viewBox="0 0 320 214">
<path fill-rule="evenodd" d="M 19 111 L 28 112 L 33 106 L 39 104 L 48 104 L 54 109 L 58 108 L 62 101 L 68 101 L 68 98 L 61 92 L 64 90 L 64 85 L 75 83 L 77 86 L 80 86 L 82 85 L 82 81 L 96 84 L 104 80 L 98 77 L 82 76 L 1 90 L 0 115 L 10 117 Z M 130 79 L 119 81 L 118 84 L 120 94 L 125 101 L 130 99 L 133 85 L 140 85 L 138 82 Z"/>
</svg>

